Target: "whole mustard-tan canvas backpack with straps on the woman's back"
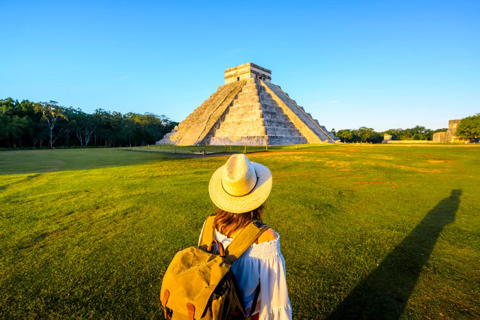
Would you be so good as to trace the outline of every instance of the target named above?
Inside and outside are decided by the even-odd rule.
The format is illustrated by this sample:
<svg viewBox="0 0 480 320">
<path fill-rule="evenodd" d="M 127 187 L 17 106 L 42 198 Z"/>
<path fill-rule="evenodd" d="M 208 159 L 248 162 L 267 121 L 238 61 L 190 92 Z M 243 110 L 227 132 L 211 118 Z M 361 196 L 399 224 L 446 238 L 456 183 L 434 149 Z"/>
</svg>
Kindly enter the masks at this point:
<svg viewBox="0 0 480 320">
<path fill-rule="evenodd" d="M 231 267 L 268 225 L 252 221 L 226 249 L 215 239 L 214 225 L 213 214 L 205 221 L 198 247 L 179 251 L 171 260 L 160 289 L 165 319 L 246 319 L 255 310 L 260 286 L 250 315 L 245 315 Z M 219 254 L 214 253 L 215 244 Z"/>
</svg>

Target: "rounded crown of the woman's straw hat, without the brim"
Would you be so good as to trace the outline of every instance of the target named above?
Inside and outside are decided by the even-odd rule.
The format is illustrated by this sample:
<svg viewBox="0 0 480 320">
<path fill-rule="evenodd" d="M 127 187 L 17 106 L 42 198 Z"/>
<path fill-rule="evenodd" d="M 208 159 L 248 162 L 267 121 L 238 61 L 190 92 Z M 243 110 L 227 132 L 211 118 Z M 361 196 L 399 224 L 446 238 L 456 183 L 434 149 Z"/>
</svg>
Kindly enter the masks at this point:
<svg viewBox="0 0 480 320">
<path fill-rule="evenodd" d="M 247 195 L 256 184 L 256 172 L 252 162 L 244 154 L 234 154 L 228 158 L 221 176 L 221 184 L 229 195 Z"/>
</svg>

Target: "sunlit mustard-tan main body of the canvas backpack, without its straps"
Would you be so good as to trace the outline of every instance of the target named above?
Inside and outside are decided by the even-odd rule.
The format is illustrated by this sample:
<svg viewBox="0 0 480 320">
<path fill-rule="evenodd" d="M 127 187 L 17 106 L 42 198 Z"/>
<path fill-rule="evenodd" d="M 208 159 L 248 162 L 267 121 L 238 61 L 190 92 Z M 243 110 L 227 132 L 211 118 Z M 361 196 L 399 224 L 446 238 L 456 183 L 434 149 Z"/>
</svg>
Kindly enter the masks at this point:
<svg viewBox="0 0 480 320">
<path fill-rule="evenodd" d="M 217 284 L 231 264 L 221 256 L 195 247 L 179 251 L 163 277 L 160 299 L 163 306 L 182 315 L 202 318 Z"/>
</svg>

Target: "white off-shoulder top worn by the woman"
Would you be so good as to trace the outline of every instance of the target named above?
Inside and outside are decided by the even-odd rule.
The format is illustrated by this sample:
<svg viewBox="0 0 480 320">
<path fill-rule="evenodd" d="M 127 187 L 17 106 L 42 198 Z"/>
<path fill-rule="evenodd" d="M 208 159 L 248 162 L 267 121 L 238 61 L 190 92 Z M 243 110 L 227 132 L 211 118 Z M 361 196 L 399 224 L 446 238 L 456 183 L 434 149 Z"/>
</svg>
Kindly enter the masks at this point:
<svg viewBox="0 0 480 320">
<path fill-rule="evenodd" d="M 215 238 L 224 248 L 233 238 L 227 238 L 215 230 Z M 291 304 L 288 297 L 285 260 L 280 254 L 280 236 L 276 239 L 253 244 L 232 264 L 232 271 L 239 284 L 243 304 L 248 313 L 253 303 L 256 287 L 260 282 L 260 294 L 255 313 L 259 319 L 291 319 Z"/>
</svg>

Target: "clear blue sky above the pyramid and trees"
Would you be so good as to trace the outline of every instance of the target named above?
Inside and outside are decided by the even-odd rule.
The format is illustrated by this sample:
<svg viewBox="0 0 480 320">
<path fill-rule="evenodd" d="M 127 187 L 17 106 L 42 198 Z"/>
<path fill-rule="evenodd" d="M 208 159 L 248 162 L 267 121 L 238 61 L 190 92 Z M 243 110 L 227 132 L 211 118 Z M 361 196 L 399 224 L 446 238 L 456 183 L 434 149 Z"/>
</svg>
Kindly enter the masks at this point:
<svg viewBox="0 0 480 320">
<path fill-rule="evenodd" d="M 330 130 L 480 112 L 480 1 L 0 1 L 0 98 L 182 121 L 254 62 Z"/>
</svg>

